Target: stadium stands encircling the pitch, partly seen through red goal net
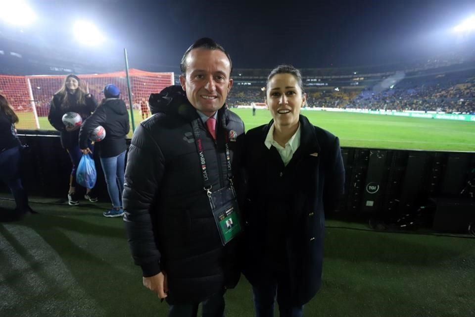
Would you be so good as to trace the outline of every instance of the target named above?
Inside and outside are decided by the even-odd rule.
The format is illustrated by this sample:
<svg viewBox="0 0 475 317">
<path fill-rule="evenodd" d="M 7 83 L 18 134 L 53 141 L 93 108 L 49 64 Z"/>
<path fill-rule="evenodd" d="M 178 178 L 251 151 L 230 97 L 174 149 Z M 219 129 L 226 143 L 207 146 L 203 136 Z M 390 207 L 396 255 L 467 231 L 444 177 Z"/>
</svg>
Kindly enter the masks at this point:
<svg viewBox="0 0 475 317">
<path fill-rule="evenodd" d="M 106 73 L 118 70 L 117 65 L 88 62 L 80 54 L 64 53 L 47 47 L 35 47 L 19 41 L 0 41 L 0 74 L 58 75 L 67 73 Z M 74 62 L 71 62 L 74 60 Z M 120 66 L 119 66 L 120 67 Z M 265 81 L 269 69 L 235 69 L 235 84 L 228 97 L 231 107 L 249 106 L 265 100 Z M 441 111 L 446 113 L 475 113 L 475 50 L 446 53 L 425 60 L 404 63 L 342 68 L 302 69 L 308 107 L 337 107 L 359 109 L 391 109 L 397 111 Z M 397 77 L 397 78 L 394 78 Z M 152 80 L 152 79 L 150 79 Z M 388 84 L 390 83 L 390 84 Z M 121 91 L 125 84 L 117 82 Z M 8 87 L 7 87 L 8 86 Z M 45 116 L 49 98 L 59 87 L 31 84 L 38 116 Z M 36 89 L 36 87 L 41 87 Z M 139 86 L 136 86 L 139 87 Z M 92 87 L 100 92 L 100 87 Z M 139 103 L 149 93 L 144 87 Z M 0 91 L 8 90 L 17 110 L 28 108 L 28 93 L 22 93 L 24 83 L 16 79 L 0 82 Z M 134 96 L 135 97 L 135 96 Z M 136 105 L 137 104 L 137 105 Z"/>
</svg>

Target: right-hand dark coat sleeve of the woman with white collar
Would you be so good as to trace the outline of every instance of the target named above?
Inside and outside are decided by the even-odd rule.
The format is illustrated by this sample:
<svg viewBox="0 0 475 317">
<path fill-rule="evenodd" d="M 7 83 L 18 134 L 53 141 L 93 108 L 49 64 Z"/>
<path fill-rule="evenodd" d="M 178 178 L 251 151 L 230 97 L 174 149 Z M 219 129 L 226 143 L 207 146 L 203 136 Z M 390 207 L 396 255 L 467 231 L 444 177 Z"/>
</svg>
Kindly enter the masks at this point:
<svg viewBox="0 0 475 317">
<path fill-rule="evenodd" d="M 335 137 L 328 151 L 332 155 L 327 161 L 328 168 L 325 171 L 323 202 L 325 211 L 334 211 L 338 207 L 345 186 L 345 168 L 341 156 L 340 142 L 337 137 Z"/>
</svg>

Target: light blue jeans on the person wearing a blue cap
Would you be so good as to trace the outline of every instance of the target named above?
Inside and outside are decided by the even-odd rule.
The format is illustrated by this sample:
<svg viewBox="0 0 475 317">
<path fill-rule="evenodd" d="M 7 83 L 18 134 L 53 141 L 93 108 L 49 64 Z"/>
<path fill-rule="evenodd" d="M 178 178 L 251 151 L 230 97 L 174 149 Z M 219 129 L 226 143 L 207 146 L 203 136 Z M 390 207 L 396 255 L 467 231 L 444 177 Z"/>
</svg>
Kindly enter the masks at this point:
<svg viewBox="0 0 475 317">
<path fill-rule="evenodd" d="M 125 151 L 111 158 L 100 158 L 100 164 L 104 171 L 105 183 L 109 192 L 112 207 L 122 207 L 122 191 L 125 182 Z"/>
</svg>

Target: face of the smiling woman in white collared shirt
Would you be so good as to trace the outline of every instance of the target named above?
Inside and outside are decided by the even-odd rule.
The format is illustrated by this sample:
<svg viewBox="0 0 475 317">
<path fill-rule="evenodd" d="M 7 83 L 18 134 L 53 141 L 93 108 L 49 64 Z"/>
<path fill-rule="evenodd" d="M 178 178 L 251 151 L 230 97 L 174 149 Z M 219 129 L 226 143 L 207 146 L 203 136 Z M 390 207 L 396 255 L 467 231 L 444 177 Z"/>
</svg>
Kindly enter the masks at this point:
<svg viewBox="0 0 475 317">
<path fill-rule="evenodd" d="M 278 126 L 292 126 L 298 123 L 300 108 L 305 103 L 306 94 L 292 74 L 274 75 L 267 85 L 267 107 Z"/>
</svg>

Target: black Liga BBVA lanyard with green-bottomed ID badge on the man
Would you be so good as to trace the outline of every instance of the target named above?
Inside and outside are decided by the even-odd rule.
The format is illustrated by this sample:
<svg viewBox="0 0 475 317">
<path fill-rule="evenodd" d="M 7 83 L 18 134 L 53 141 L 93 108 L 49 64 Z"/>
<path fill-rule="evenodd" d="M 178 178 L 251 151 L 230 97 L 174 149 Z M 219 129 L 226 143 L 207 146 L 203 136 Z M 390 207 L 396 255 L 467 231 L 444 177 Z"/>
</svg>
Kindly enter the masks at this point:
<svg viewBox="0 0 475 317">
<path fill-rule="evenodd" d="M 229 140 L 227 133 L 225 136 L 226 146 L 226 165 L 229 186 L 225 186 L 216 191 L 212 191 L 213 186 L 209 180 L 208 169 L 206 167 L 206 158 L 204 157 L 203 142 L 200 137 L 199 121 L 197 118 L 193 120 L 193 134 L 196 150 L 198 151 L 199 163 L 201 165 L 201 175 L 203 178 L 203 190 L 208 196 L 209 205 L 213 212 L 214 220 L 221 237 L 223 245 L 231 241 L 241 231 L 238 202 L 233 184 L 233 173 L 231 169 L 231 156 L 229 150 Z M 219 139 L 218 133 L 216 139 Z M 219 163 L 219 162 L 218 162 Z M 221 177 L 221 175 L 219 175 Z"/>
</svg>

